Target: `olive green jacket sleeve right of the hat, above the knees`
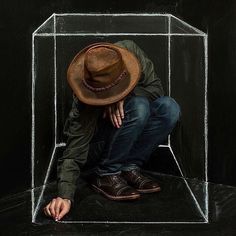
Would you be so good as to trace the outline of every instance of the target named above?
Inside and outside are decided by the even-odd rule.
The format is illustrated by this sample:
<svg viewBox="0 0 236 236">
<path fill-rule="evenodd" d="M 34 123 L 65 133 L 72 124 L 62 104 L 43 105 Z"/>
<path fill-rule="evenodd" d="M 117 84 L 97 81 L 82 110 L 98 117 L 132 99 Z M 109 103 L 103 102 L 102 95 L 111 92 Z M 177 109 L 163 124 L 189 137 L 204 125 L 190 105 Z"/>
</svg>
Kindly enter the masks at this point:
<svg viewBox="0 0 236 236">
<path fill-rule="evenodd" d="M 134 94 L 138 96 L 146 96 L 153 101 L 157 97 L 163 96 L 164 91 L 159 77 L 157 77 L 153 62 L 147 57 L 145 52 L 133 41 L 124 40 L 116 43 L 119 46 L 127 48 L 139 60 L 141 64 L 141 78 L 134 88 Z"/>
</svg>

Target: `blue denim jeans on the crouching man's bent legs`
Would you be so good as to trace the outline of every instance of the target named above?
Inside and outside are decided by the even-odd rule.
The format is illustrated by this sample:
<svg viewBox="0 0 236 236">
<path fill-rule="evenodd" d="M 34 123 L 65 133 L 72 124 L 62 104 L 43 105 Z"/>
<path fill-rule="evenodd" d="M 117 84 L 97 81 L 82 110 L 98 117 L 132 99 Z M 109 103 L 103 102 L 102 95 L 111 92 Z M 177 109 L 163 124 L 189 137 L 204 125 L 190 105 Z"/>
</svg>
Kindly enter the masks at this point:
<svg viewBox="0 0 236 236">
<path fill-rule="evenodd" d="M 120 128 L 113 127 L 108 120 L 99 121 L 93 141 L 104 142 L 103 148 L 99 153 L 91 145 L 89 150 L 90 159 L 98 160 L 93 169 L 98 175 L 142 167 L 155 147 L 163 144 L 175 127 L 180 107 L 167 96 L 153 102 L 146 97 L 129 96 L 124 102 L 124 112 Z"/>
</svg>

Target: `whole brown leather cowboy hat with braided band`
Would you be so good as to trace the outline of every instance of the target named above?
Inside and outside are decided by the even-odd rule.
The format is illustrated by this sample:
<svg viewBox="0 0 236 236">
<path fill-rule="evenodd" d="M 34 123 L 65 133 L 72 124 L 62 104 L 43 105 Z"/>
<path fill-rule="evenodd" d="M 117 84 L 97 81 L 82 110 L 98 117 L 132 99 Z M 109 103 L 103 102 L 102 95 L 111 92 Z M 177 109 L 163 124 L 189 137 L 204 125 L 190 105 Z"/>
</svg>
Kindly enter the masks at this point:
<svg viewBox="0 0 236 236">
<path fill-rule="evenodd" d="M 96 43 L 74 57 L 67 80 L 81 102 L 108 105 L 128 95 L 140 74 L 140 63 L 133 53 L 115 44 Z"/>
</svg>

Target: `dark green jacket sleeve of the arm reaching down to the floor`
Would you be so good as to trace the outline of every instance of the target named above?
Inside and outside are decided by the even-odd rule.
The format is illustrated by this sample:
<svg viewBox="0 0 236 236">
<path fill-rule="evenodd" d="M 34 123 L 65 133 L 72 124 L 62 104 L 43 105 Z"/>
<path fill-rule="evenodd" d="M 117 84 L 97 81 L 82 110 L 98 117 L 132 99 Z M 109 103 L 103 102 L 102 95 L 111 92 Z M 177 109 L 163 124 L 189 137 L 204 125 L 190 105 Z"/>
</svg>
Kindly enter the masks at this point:
<svg viewBox="0 0 236 236">
<path fill-rule="evenodd" d="M 64 133 L 68 137 L 66 149 L 57 161 L 58 196 L 74 200 L 80 168 L 87 160 L 89 142 L 96 125 L 93 109 L 74 97 L 66 120 Z"/>
</svg>

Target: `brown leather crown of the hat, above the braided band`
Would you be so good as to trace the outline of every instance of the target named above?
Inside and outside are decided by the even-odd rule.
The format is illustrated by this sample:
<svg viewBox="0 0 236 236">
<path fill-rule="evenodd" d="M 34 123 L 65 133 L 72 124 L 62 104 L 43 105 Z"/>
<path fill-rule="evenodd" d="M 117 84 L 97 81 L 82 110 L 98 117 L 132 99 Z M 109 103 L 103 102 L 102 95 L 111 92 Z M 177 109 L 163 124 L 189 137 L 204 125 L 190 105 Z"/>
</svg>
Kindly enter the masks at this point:
<svg viewBox="0 0 236 236">
<path fill-rule="evenodd" d="M 84 65 L 85 82 L 101 89 L 112 85 L 125 70 L 120 52 L 109 46 L 90 48 L 86 52 Z"/>
</svg>

